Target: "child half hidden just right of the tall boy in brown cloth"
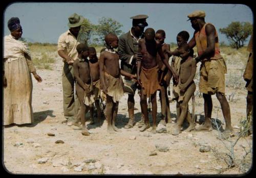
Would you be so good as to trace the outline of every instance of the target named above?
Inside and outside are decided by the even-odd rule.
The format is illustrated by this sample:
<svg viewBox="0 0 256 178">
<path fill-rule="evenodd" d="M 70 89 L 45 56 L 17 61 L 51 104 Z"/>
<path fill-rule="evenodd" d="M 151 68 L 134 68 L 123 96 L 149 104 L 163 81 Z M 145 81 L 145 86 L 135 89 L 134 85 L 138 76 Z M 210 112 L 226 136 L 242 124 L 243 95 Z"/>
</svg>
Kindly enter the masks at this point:
<svg viewBox="0 0 256 178">
<path fill-rule="evenodd" d="M 164 42 L 165 32 L 163 30 L 158 30 L 156 32 L 155 39 L 160 43 L 163 52 L 166 50 L 170 50 L 170 45 Z M 169 58 L 168 58 L 169 59 Z M 161 121 L 160 123 L 166 125 L 167 122 L 172 122 L 170 117 L 170 107 L 169 107 L 169 99 L 167 95 L 167 87 L 170 84 L 170 79 L 172 78 L 172 72 L 167 69 L 167 67 L 163 64 L 161 57 L 157 54 L 157 64 L 159 66 L 159 73 L 162 73 L 162 76 L 159 76 L 161 90 L 159 92 L 159 97 L 161 101 Z"/>
</svg>

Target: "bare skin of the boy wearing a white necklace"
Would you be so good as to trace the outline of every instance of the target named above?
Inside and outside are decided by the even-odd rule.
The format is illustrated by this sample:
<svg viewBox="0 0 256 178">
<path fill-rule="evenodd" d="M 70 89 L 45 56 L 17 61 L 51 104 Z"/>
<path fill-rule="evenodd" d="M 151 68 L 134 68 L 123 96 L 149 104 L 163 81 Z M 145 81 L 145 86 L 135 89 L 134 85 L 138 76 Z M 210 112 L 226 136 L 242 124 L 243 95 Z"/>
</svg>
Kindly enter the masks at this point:
<svg viewBox="0 0 256 178">
<path fill-rule="evenodd" d="M 113 48 L 118 47 L 118 38 L 114 36 L 112 39 L 106 40 L 107 46 L 106 48 L 113 50 Z M 111 47 L 112 46 L 112 47 Z M 121 132 L 115 126 L 115 120 L 118 111 L 118 102 L 114 102 L 113 97 L 109 96 L 108 93 L 108 86 L 106 85 L 105 81 L 105 74 L 104 72 L 112 75 L 114 78 L 119 78 L 120 74 L 125 75 L 126 77 L 130 77 L 132 79 L 136 79 L 135 75 L 127 73 L 123 70 L 120 70 L 119 67 L 119 56 L 117 53 L 110 53 L 103 51 L 100 53 L 99 59 L 99 69 L 100 69 L 100 83 L 102 86 L 102 91 L 106 94 L 106 120 L 108 121 L 108 132 L 114 133 Z"/>
</svg>

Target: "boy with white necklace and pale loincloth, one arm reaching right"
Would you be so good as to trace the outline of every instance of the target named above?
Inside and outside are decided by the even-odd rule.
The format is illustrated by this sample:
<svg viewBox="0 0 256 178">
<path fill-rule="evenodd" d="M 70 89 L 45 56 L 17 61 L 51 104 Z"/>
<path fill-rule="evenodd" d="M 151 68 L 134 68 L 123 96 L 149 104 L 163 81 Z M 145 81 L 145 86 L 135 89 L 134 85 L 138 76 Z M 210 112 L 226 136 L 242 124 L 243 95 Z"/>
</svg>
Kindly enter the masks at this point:
<svg viewBox="0 0 256 178">
<path fill-rule="evenodd" d="M 123 96 L 123 81 L 121 75 L 136 79 L 135 75 L 120 70 L 119 56 L 114 48 L 118 47 L 118 37 L 115 34 L 105 36 L 106 49 L 100 53 L 100 83 L 102 91 L 106 94 L 106 119 L 108 132 L 120 132 L 115 126 L 118 103 Z"/>
</svg>

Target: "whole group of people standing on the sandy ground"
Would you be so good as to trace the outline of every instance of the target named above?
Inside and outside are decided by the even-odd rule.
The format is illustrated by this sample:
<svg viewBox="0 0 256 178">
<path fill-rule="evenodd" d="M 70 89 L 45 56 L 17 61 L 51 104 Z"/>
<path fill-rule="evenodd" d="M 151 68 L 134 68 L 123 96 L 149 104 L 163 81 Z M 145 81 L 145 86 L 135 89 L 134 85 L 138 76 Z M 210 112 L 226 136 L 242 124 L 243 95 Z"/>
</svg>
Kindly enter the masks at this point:
<svg viewBox="0 0 256 178">
<path fill-rule="evenodd" d="M 205 22 L 205 12 L 194 11 L 188 15 L 195 33 L 190 41 L 187 42 L 189 34 L 186 31 L 181 31 L 177 35 L 178 48 L 173 52 L 170 51 L 170 46 L 164 42 L 165 32 L 163 30 L 155 32 L 154 29 L 147 28 L 144 32 L 144 28 L 148 26 L 146 22 L 147 18 L 147 15 L 131 17 L 132 28 L 119 38 L 112 33 L 106 35 L 106 48 L 102 49 L 100 58 L 98 59 L 95 48 L 88 47 L 86 41 L 79 39 L 79 31 L 84 18 L 76 13 L 69 17 L 69 30 L 60 35 L 57 45 L 58 54 L 64 63 L 62 70 L 62 91 L 63 111 L 66 121 L 79 125 L 78 121 L 80 120 L 82 122 L 82 134 L 89 135 L 85 125 L 85 113 L 90 110 L 91 118 L 93 119 L 93 103 L 97 100 L 96 108 L 99 118 L 100 107 L 98 99 L 100 94 L 99 92 L 94 92 L 98 88 L 98 90 L 102 89 L 106 100 L 105 116 L 108 121 L 108 131 L 119 131 L 115 126 L 115 120 L 118 111 L 118 101 L 124 91 L 129 93 L 127 99 L 129 121 L 124 128 L 133 128 L 136 123 L 134 117 L 134 96 L 136 90 L 138 90 L 142 112 L 141 120 L 138 124 L 140 131 L 143 132 L 150 128 L 147 111 L 148 98 L 152 103 L 152 132 L 156 132 L 157 91 L 160 91 L 161 122 L 166 124 L 172 121 L 170 119 L 167 87 L 170 79 L 173 77 L 174 96 L 177 100 L 177 123 L 172 134 L 178 135 L 181 132 L 181 125 L 185 118 L 189 122 L 189 131 L 211 131 L 211 95 L 216 94 L 226 122 L 223 137 L 230 136 L 232 134 L 230 108 L 225 97 L 226 64 L 220 53 L 218 33 L 213 24 Z M 41 78 L 36 74 L 34 67 L 30 67 L 33 65 L 30 53 L 27 51 L 27 46 L 24 42 L 18 41 L 22 34 L 22 28 L 18 25 L 19 20 L 17 24 L 17 18 L 14 19 L 16 21 L 13 18 L 9 20 L 10 23 L 8 21 L 8 28 L 10 24 L 9 29 L 11 35 L 5 37 L 4 76 L 7 80 L 4 81 L 7 81 L 7 87 L 5 85 L 4 125 L 10 123 L 31 123 L 32 121 L 32 119 L 24 121 L 20 118 L 28 117 L 17 117 L 14 114 L 18 113 L 17 111 L 20 111 L 20 109 L 18 109 L 19 105 L 13 103 L 13 98 L 22 98 L 22 96 L 11 94 L 14 91 L 8 88 L 12 87 L 13 84 L 15 91 L 21 92 L 15 86 L 16 83 L 11 82 L 12 80 L 10 78 L 17 79 L 17 76 L 15 75 L 13 77 L 13 73 L 10 74 L 10 71 L 14 70 L 10 69 L 11 66 L 9 65 L 14 65 L 15 61 L 26 64 L 26 69 L 24 70 L 27 71 L 27 77 L 22 77 L 20 74 L 18 76 L 23 79 L 26 78 L 26 81 L 29 82 L 29 85 L 26 85 L 26 82 L 22 83 L 22 85 L 29 86 L 30 88 L 28 103 L 30 103 L 31 110 L 26 111 L 30 115 L 32 115 L 32 83 L 29 71 L 34 74 L 38 82 L 41 82 Z M 250 41 L 248 46 L 252 46 L 252 40 Z M 195 46 L 197 46 L 198 56 L 194 59 L 193 47 Z M 118 48 L 117 52 L 114 50 L 115 48 Z M 168 60 L 171 56 L 174 57 L 172 64 L 169 65 Z M 250 56 L 244 74 L 248 89 L 247 113 L 252 111 L 252 59 L 252 50 L 250 50 Z M 119 60 L 121 61 L 121 66 L 119 66 Z M 204 98 L 205 122 L 196 127 L 195 121 L 188 112 L 188 101 L 191 97 L 194 97 L 196 90 L 193 79 L 198 62 L 201 62 L 199 90 L 203 93 Z M 124 82 L 120 77 L 121 74 L 124 75 Z M 98 87 L 95 88 L 96 84 Z M 76 87 L 74 88 L 74 86 Z M 22 92 L 25 93 L 24 91 Z M 26 93 L 25 95 L 28 94 Z M 8 102 L 10 100 L 11 102 L 9 104 Z M 27 109 L 27 107 L 24 108 Z M 18 118 L 18 121 L 15 121 L 15 118 Z"/>
</svg>

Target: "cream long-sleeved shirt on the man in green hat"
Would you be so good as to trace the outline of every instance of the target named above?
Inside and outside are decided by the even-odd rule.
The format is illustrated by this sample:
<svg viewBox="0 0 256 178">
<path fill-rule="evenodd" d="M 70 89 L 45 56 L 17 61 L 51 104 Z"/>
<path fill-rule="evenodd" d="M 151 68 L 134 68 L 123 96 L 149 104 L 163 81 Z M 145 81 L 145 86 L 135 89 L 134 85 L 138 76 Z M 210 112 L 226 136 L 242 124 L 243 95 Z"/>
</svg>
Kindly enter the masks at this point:
<svg viewBox="0 0 256 178">
<path fill-rule="evenodd" d="M 76 60 L 78 57 L 78 53 L 76 50 L 76 46 L 79 44 L 75 36 L 68 30 L 65 33 L 62 33 L 59 36 L 58 39 L 58 45 L 57 49 L 58 50 L 64 50 L 64 52 L 73 60 Z M 65 61 L 65 59 L 63 59 Z"/>
</svg>

